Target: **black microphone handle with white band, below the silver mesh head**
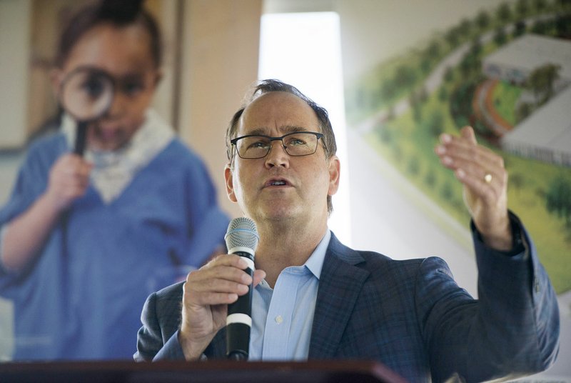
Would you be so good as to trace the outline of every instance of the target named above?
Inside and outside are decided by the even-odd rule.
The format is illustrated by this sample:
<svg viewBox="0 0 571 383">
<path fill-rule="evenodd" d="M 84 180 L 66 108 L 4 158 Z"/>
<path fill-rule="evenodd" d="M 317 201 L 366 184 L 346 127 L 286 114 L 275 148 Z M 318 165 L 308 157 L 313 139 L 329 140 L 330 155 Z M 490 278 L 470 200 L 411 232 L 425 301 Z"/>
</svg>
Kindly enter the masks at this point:
<svg viewBox="0 0 571 383">
<path fill-rule="evenodd" d="M 252 267 L 248 267 L 247 272 L 253 277 L 253 255 L 247 252 L 234 252 L 240 257 L 246 257 Z M 228 359 L 246 360 L 248 359 L 250 347 L 250 329 L 252 313 L 252 285 L 248 286 L 248 293 L 238 297 L 234 303 L 228 304 L 228 319 L 226 322 L 226 350 Z"/>
</svg>

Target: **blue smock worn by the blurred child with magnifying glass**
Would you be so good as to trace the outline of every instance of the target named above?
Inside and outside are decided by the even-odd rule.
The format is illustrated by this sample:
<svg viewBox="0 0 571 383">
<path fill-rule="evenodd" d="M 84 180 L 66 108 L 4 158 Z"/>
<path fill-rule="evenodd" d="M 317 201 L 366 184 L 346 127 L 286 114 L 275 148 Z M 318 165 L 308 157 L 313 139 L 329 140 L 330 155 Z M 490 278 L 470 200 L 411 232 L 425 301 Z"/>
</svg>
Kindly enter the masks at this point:
<svg viewBox="0 0 571 383">
<path fill-rule="evenodd" d="M 0 227 L 44 192 L 66 151 L 61 132 L 31 146 Z M 14 302 L 14 359 L 131 359 L 148 294 L 203 264 L 227 226 L 205 166 L 178 139 L 113 202 L 89 186 L 35 262 L 19 274 L 0 267 L 0 296 Z"/>
</svg>

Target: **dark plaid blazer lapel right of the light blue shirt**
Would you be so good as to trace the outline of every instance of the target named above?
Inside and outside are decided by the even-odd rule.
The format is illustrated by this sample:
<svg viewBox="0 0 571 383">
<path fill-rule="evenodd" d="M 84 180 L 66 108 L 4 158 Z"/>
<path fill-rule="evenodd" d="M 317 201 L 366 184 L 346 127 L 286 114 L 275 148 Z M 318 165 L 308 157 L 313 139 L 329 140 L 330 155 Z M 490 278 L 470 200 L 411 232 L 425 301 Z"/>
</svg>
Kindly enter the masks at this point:
<svg viewBox="0 0 571 383">
<path fill-rule="evenodd" d="M 355 301 L 369 272 L 355 267 L 364 262 L 332 234 L 321 275 L 309 346 L 310 359 L 335 356 Z"/>
</svg>

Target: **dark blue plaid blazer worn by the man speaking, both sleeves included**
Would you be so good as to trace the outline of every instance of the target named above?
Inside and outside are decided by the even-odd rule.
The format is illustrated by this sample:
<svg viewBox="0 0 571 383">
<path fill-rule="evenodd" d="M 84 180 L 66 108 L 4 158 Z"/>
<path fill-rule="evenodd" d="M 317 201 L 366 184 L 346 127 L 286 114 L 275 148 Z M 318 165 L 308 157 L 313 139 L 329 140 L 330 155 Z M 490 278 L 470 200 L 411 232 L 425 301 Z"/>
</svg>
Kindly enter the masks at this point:
<svg viewBox="0 0 571 383">
<path fill-rule="evenodd" d="M 524 230 L 524 229 L 522 229 Z M 440 258 L 396 261 L 345 247 L 332 235 L 320 276 L 309 359 L 370 359 L 410 382 L 467 382 L 531 374 L 555 361 L 557 299 L 532 242 L 507 257 L 474 234 L 479 300 Z M 138 361 L 183 359 L 182 284 L 151 294 L 138 332 Z M 226 357 L 221 329 L 204 354 Z M 458 376 L 456 375 L 456 376 Z"/>
</svg>

